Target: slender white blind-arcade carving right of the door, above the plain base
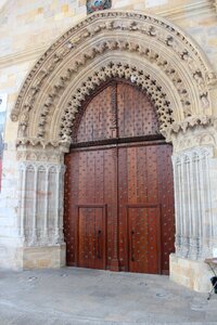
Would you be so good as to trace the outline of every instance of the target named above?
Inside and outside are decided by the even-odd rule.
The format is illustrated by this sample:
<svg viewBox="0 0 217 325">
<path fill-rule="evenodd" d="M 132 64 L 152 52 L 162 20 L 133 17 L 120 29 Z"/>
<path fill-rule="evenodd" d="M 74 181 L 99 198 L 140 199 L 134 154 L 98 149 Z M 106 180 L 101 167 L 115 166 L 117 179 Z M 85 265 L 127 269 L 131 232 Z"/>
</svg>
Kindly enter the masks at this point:
<svg viewBox="0 0 217 325">
<path fill-rule="evenodd" d="M 212 147 L 173 156 L 176 204 L 176 253 L 193 260 L 212 256 L 209 159 Z"/>
</svg>

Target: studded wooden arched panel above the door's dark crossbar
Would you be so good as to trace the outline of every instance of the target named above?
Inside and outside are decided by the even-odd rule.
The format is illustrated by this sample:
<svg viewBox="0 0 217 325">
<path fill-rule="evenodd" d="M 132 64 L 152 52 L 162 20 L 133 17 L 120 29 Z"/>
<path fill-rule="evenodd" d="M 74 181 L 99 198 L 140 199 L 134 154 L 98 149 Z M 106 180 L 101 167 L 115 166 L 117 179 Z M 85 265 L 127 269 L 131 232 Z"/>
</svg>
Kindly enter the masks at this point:
<svg viewBox="0 0 217 325">
<path fill-rule="evenodd" d="M 158 134 L 156 110 L 138 88 L 113 80 L 80 109 L 74 142 Z"/>
</svg>

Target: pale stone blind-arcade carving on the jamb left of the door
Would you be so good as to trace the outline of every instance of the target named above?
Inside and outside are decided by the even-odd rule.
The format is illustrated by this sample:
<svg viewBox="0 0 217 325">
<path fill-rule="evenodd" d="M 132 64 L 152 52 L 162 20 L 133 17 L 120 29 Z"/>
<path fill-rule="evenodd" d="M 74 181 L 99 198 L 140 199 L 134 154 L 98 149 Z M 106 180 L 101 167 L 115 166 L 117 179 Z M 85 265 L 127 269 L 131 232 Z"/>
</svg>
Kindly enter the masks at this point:
<svg viewBox="0 0 217 325">
<path fill-rule="evenodd" d="M 36 157 L 27 155 L 36 160 Z M 63 244 L 64 166 L 44 161 L 20 165 L 20 236 L 24 246 Z"/>
</svg>

